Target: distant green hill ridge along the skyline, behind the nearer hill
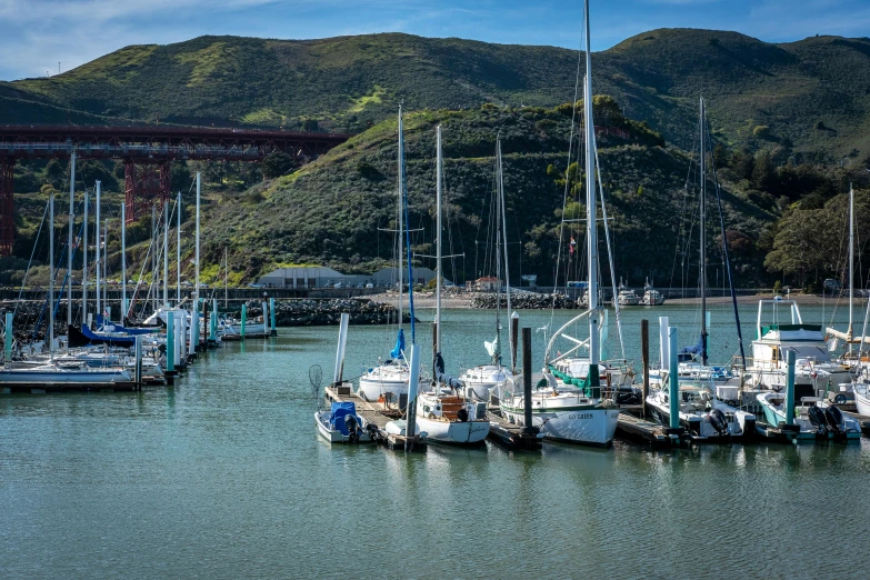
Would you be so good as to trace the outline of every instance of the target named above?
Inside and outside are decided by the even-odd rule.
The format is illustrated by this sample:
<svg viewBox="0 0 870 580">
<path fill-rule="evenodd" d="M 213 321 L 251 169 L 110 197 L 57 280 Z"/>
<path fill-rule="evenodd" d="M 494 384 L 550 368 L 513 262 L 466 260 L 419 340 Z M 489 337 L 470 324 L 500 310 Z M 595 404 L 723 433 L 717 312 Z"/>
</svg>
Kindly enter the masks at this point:
<svg viewBox="0 0 870 580">
<path fill-rule="evenodd" d="M 51 78 L 0 82 L 0 123 L 130 119 L 357 132 L 408 110 L 553 107 L 576 51 L 399 33 L 286 41 L 201 37 L 132 46 Z M 870 153 L 870 40 L 771 44 L 663 29 L 593 58 L 596 92 L 690 149 L 697 99 L 728 143 L 828 160 Z M 308 122 L 307 122 L 308 121 Z"/>
</svg>

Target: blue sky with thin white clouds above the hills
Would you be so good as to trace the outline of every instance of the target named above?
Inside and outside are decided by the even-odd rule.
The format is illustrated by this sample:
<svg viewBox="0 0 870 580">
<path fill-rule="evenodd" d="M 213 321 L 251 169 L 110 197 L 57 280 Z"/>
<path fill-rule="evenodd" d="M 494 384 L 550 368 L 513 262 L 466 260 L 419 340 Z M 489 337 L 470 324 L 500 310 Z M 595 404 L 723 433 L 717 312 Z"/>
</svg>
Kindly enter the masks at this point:
<svg viewBox="0 0 870 580">
<path fill-rule="evenodd" d="M 201 34 L 282 39 L 409 32 L 579 46 L 582 2 L 551 0 L 0 0 L 0 79 L 52 74 L 128 44 Z M 592 49 L 654 28 L 786 42 L 870 34 L 868 0 L 591 0 Z"/>
</svg>

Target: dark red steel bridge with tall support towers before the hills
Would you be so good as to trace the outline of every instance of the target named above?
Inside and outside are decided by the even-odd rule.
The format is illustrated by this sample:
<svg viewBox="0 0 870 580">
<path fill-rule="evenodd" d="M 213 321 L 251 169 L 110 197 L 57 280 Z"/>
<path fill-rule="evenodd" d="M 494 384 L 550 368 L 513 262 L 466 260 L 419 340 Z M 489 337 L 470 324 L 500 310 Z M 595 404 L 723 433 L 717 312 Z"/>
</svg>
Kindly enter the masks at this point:
<svg viewBox="0 0 870 580">
<path fill-rule="evenodd" d="M 343 143 L 350 136 L 202 127 L 0 127 L 0 257 L 12 253 L 12 176 L 18 159 L 69 157 L 123 159 L 128 221 L 168 200 L 170 163 L 186 160 L 261 161 L 282 152 L 299 162 Z"/>
</svg>

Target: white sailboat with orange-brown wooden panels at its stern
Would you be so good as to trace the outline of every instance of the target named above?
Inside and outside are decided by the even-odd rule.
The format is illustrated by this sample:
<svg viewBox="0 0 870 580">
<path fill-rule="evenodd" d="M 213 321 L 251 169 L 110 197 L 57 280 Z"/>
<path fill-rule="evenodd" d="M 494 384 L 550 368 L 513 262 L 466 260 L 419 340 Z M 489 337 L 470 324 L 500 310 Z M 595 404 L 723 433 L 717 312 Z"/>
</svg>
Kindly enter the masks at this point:
<svg viewBox="0 0 870 580">
<path fill-rule="evenodd" d="M 478 444 L 483 442 L 489 434 L 489 419 L 483 413 L 482 419 L 477 417 L 477 406 L 461 393 L 454 392 L 461 383 L 453 381 L 443 373 L 443 359 L 441 357 L 441 126 L 438 127 L 438 158 L 436 162 L 436 342 L 434 352 L 434 381 L 432 390 L 422 391 L 417 398 L 417 426 L 429 436 L 429 441 L 436 443 Z M 486 409 L 484 409 L 486 411 Z"/>
</svg>

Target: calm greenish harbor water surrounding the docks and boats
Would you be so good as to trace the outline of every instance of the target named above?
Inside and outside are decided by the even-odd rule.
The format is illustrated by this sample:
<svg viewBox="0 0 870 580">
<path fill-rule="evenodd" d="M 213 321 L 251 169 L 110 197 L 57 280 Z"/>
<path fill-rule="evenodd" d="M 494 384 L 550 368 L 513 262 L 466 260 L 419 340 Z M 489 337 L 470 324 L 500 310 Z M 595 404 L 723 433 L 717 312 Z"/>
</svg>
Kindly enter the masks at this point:
<svg viewBox="0 0 870 580">
<path fill-rule="evenodd" d="M 821 322 L 820 309 L 802 310 Z M 550 319 L 521 314 L 532 328 Z M 694 309 L 628 310 L 630 358 L 639 358 L 644 316 L 658 352 L 662 314 L 680 326 L 681 342 L 694 342 Z M 742 314 L 751 340 L 754 309 Z M 448 311 L 443 330 L 448 371 L 484 362 L 492 313 Z M 713 360 L 730 359 L 733 333 L 718 307 Z M 870 573 L 870 440 L 674 451 L 618 441 L 516 454 L 432 446 L 408 457 L 330 447 L 313 424 L 309 369 L 320 364 L 331 379 L 337 334 L 281 329 L 277 339 L 227 344 L 171 389 L 0 397 L 0 577 Z M 430 334 L 418 326 L 423 352 Z M 392 341 L 382 328 L 351 328 L 347 374 Z M 609 342 L 617 356 L 612 312 Z M 542 333 L 534 347 L 539 361 Z"/>
</svg>

